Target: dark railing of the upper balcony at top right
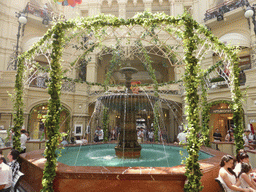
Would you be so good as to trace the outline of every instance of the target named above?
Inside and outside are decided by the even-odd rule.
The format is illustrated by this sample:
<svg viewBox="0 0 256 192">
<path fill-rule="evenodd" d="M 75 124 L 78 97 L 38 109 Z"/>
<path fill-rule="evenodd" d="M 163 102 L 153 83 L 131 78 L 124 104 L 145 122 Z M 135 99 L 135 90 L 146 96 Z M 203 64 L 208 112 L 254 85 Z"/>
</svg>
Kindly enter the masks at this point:
<svg viewBox="0 0 256 192">
<path fill-rule="evenodd" d="M 224 13 L 230 12 L 242 6 L 244 6 L 244 0 L 225 1 L 224 3 L 221 3 L 216 7 L 208 9 L 204 14 L 204 21 L 206 22 L 210 19 L 216 18 L 219 14 L 223 15 Z"/>
</svg>

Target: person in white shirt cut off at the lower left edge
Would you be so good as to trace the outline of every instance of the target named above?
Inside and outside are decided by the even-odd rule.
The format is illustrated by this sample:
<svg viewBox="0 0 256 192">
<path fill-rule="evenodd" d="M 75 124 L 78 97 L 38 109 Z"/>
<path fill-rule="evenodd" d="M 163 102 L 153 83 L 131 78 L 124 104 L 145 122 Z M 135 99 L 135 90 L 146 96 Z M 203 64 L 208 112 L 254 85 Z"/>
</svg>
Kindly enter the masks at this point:
<svg viewBox="0 0 256 192">
<path fill-rule="evenodd" d="M 4 158 L 0 157 L 0 192 L 10 192 L 12 185 L 11 168 L 4 163 Z"/>
</svg>

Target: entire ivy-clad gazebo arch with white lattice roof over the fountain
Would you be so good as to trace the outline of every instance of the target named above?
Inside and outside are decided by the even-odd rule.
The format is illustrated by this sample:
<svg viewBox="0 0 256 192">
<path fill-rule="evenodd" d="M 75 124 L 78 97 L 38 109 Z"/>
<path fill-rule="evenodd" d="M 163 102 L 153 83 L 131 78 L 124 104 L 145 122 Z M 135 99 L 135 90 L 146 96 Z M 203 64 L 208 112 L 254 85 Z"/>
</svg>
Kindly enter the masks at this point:
<svg viewBox="0 0 256 192">
<path fill-rule="evenodd" d="M 113 43 L 113 39 L 115 42 Z M 111 43 L 112 42 L 112 43 Z M 111 49 L 105 44 L 111 45 Z M 131 54 L 139 58 L 142 65 L 152 78 L 154 96 L 159 97 L 162 86 L 180 83 L 184 86 L 186 114 L 188 121 L 188 158 L 186 158 L 186 173 L 188 182 L 185 184 L 185 191 L 200 191 L 202 186 L 200 178 L 200 165 L 198 163 L 198 152 L 200 146 L 207 137 L 207 128 L 200 124 L 201 108 L 207 105 L 207 89 L 210 87 L 210 79 L 217 74 L 221 75 L 231 90 L 234 111 L 234 123 L 236 125 L 235 140 L 237 149 L 243 148 L 242 132 L 243 119 L 241 117 L 242 94 L 239 89 L 239 68 L 237 50 L 226 47 L 217 37 L 213 36 L 204 26 L 198 24 L 189 15 L 172 17 L 161 14 L 151 14 L 144 12 L 137 14 L 131 19 L 124 20 L 114 16 L 99 15 L 96 17 L 78 18 L 75 20 L 60 21 L 49 30 L 39 42 L 23 53 L 18 58 L 18 70 L 16 76 L 16 102 L 15 114 L 15 140 L 14 147 L 19 149 L 20 129 L 23 124 L 23 79 L 31 67 L 38 68 L 37 64 L 32 64 L 33 58 L 42 52 L 48 52 L 50 59 L 48 93 L 50 100 L 48 103 L 48 113 L 45 121 L 47 136 L 46 143 L 43 191 L 53 191 L 53 179 L 56 175 L 56 149 L 59 142 L 59 121 L 61 107 L 60 94 L 63 76 L 68 73 L 67 69 L 76 66 L 80 58 L 88 58 L 88 54 L 97 50 L 111 52 L 112 59 L 110 68 L 106 74 L 102 87 L 102 92 L 110 89 L 110 77 L 113 71 L 122 66 L 122 56 L 125 55 L 122 47 L 130 46 Z M 152 49 L 153 47 L 153 49 Z M 65 59 L 63 49 L 67 52 L 75 50 L 73 57 Z M 155 70 L 152 68 L 152 61 L 149 52 L 156 51 L 169 60 L 168 65 L 174 66 L 175 70 L 184 68 L 185 73 L 175 82 L 158 83 Z M 139 54 L 138 54 L 139 53 Z M 208 53 L 215 53 L 221 60 L 215 65 L 206 68 L 202 65 L 203 59 Z M 76 58 L 71 60 L 72 58 Z M 128 56 L 130 58 L 130 56 Z M 66 70 L 62 70 L 61 65 L 66 65 Z M 68 65 L 68 63 L 71 63 Z M 69 67 L 67 67 L 69 66 Z M 43 70 L 43 69 L 41 69 Z M 228 70 L 229 73 L 225 73 Z M 25 76 L 26 78 L 26 76 Z M 76 82 L 68 77 L 65 80 Z M 90 84 L 91 86 L 95 84 Z M 144 86 L 144 85 L 141 85 Z M 199 91 L 201 90 L 201 99 Z M 160 92 L 160 93 L 159 93 Z M 201 101 L 201 102 L 200 102 Z M 202 113 L 202 116 L 204 113 Z M 204 116 L 203 116 L 204 117 Z M 205 137 L 197 137 L 202 132 Z"/>
</svg>

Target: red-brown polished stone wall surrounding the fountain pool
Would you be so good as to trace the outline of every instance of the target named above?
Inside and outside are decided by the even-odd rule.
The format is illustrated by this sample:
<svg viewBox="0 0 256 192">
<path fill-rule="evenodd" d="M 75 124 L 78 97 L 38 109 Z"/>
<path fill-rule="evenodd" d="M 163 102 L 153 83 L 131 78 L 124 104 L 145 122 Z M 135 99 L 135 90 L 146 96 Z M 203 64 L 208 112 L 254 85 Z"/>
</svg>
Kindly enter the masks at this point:
<svg viewBox="0 0 256 192">
<path fill-rule="evenodd" d="M 202 151 L 213 157 L 200 160 L 203 191 L 218 191 L 214 181 L 218 176 L 219 162 L 225 154 L 211 148 L 202 147 Z M 25 174 L 23 181 L 30 184 L 33 191 L 40 191 L 46 159 L 43 150 L 21 155 L 21 170 Z M 54 191 L 91 191 L 91 192 L 145 192 L 145 191 L 183 191 L 186 177 L 184 165 L 174 167 L 105 167 L 105 166 L 69 166 L 58 162 Z"/>
</svg>

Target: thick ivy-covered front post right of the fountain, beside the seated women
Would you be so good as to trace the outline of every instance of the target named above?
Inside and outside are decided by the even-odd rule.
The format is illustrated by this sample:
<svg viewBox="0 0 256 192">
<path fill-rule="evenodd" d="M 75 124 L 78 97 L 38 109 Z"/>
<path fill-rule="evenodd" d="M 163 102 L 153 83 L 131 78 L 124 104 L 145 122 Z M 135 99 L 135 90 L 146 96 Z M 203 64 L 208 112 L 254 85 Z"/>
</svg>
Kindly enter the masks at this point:
<svg viewBox="0 0 256 192">
<path fill-rule="evenodd" d="M 199 123 L 199 95 L 197 93 L 200 83 L 200 68 L 198 59 L 195 57 L 197 49 L 198 36 L 194 33 L 194 21 L 191 17 L 184 16 L 183 22 L 185 31 L 183 35 L 184 52 L 185 52 L 185 77 L 184 86 L 186 90 L 186 114 L 188 120 L 187 131 L 187 151 L 186 172 L 187 182 L 184 186 L 184 191 L 197 192 L 201 191 L 203 186 L 200 182 L 202 173 L 198 163 L 198 154 L 200 150 L 200 139 L 198 133 L 200 131 Z"/>
</svg>

